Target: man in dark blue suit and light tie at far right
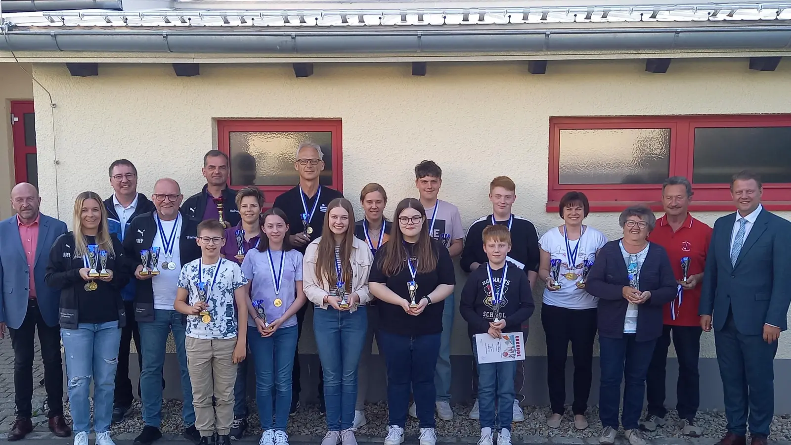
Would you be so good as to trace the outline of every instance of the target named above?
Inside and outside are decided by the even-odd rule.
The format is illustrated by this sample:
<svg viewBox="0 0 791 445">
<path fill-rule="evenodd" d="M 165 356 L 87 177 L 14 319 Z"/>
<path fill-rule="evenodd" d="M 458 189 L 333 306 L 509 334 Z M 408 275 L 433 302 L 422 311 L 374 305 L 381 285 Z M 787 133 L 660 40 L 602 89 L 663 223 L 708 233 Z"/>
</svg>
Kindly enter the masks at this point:
<svg viewBox="0 0 791 445">
<path fill-rule="evenodd" d="M 703 276 L 700 322 L 714 329 L 728 420 L 717 445 L 744 445 L 747 420 L 751 445 L 766 445 L 774 413 L 774 354 L 791 302 L 791 222 L 766 211 L 762 193 L 758 175 L 733 176 L 738 211 L 714 223 Z"/>
</svg>

